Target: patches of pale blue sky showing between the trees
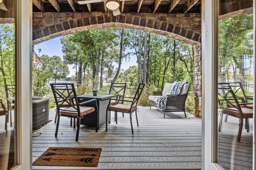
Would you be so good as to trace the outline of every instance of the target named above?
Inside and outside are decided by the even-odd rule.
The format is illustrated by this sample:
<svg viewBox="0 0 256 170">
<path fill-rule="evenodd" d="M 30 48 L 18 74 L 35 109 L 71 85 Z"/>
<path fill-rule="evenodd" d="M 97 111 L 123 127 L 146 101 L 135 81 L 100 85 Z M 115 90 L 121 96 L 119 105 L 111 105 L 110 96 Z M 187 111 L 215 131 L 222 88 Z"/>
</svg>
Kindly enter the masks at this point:
<svg viewBox="0 0 256 170">
<path fill-rule="evenodd" d="M 37 54 L 38 53 L 38 49 L 42 49 L 42 52 L 40 53 L 40 56 L 42 54 L 44 55 L 48 55 L 50 57 L 57 55 L 60 56 L 60 58 L 63 59 L 63 53 L 62 53 L 62 44 L 60 43 L 60 37 L 54 38 L 54 39 L 50 39 L 48 41 L 42 42 L 38 45 L 35 45 L 34 50 L 36 51 Z M 129 49 L 126 50 L 126 53 L 129 51 Z M 137 58 L 136 56 L 130 56 L 130 61 L 122 61 L 122 65 L 121 68 L 126 70 L 128 69 L 130 66 L 133 65 L 138 65 L 136 63 Z M 115 67 L 118 66 L 117 63 L 113 63 Z M 73 69 L 74 65 L 69 65 L 69 75 L 68 77 L 75 75 L 75 69 Z"/>
</svg>

